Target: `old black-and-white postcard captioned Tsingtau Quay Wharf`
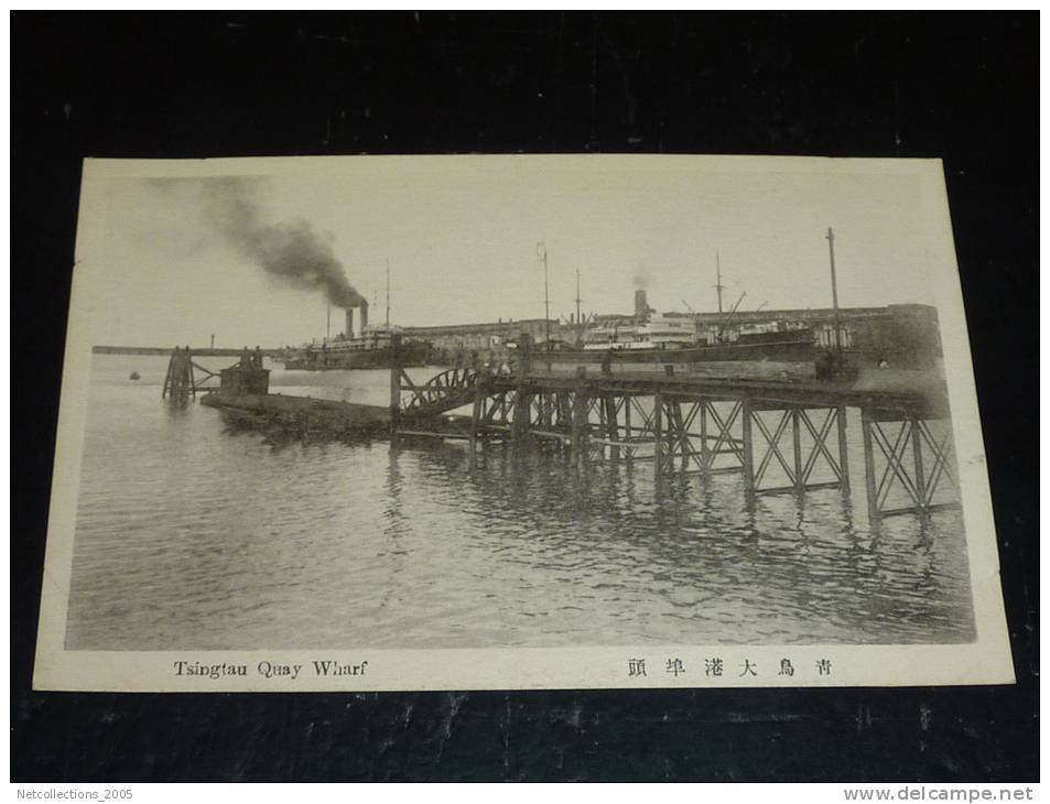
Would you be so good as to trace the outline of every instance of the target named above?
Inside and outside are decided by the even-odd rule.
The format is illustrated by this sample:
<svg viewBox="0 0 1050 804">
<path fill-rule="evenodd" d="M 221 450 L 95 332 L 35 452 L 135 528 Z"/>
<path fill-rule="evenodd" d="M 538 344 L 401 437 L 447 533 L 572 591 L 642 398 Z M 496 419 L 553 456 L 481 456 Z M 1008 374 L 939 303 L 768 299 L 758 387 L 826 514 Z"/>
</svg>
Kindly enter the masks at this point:
<svg viewBox="0 0 1050 804">
<path fill-rule="evenodd" d="M 939 161 L 85 162 L 36 688 L 1013 681 Z"/>
</svg>

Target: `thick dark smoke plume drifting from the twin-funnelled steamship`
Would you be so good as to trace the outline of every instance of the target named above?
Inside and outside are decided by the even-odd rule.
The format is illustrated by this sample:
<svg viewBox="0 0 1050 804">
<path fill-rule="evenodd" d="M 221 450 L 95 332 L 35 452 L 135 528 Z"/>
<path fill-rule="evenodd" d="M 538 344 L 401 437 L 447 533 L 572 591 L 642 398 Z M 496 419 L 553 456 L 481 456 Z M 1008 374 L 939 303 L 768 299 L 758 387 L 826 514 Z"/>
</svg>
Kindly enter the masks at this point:
<svg viewBox="0 0 1050 804">
<path fill-rule="evenodd" d="M 257 181 L 224 177 L 205 185 L 205 214 L 223 239 L 292 287 L 320 290 L 337 307 L 367 304 L 346 279 L 332 246 L 306 220 L 269 224 L 256 200 Z"/>
</svg>

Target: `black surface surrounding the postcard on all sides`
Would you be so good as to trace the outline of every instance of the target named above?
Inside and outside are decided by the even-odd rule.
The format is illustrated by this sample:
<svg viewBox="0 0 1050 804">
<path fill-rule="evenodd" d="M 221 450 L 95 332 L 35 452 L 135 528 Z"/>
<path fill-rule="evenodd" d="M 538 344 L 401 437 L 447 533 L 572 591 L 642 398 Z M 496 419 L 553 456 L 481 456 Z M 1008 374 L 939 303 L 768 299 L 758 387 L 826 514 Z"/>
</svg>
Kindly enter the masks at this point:
<svg viewBox="0 0 1050 804">
<path fill-rule="evenodd" d="M 1035 780 L 1038 17 L 12 18 L 12 778 Z M 944 159 L 1016 686 L 33 693 L 84 156 Z"/>
</svg>

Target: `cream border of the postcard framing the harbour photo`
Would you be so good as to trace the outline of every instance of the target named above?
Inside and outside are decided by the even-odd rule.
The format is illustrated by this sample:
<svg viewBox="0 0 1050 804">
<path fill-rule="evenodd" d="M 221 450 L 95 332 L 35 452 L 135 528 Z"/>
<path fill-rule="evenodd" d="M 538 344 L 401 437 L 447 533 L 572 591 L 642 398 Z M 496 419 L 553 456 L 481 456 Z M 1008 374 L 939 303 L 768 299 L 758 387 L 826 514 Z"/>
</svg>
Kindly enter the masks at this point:
<svg viewBox="0 0 1050 804">
<path fill-rule="evenodd" d="M 556 172 L 582 164 L 596 170 L 629 167 L 674 170 L 689 164 L 726 172 L 894 173 L 919 181 L 928 231 L 929 268 L 940 317 L 944 369 L 974 604 L 976 641 L 944 645 L 619 645 L 607 648 L 483 650 L 259 650 L 259 651 L 67 651 L 66 607 L 73 561 L 73 535 L 90 370 L 90 319 L 96 311 L 76 270 L 63 368 L 55 468 L 37 638 L 35 689 L 123 692 L 321 692 L 423 689 L 539 689 L 635 687 L 786 687 L 1004 684 L 1014 682 L 999 579 L 984 441 L 977 414 L 970 341 L 955 261 L 951 219 L 939 160 L 822 159 L 688 155 L 515 155 L 515 156 L 326 156 L 221 160 L 88 160 L 80 199 L 79 253 L 85 221 L 99 203 L 91 196 L 104 176 L 187 176 L 227 174 L 303 174 L 325 171 L 331 160 L 367 159 L 391 166 L 412 160 L 425 177 L 446 160 L 485 160 L 495 169 Z M 681 161 L 681 162 L 680 162 Z M 724 672 L 705 672 L 706 660 L 721 659 Z M 646 674 L 629 675 L 631 660 L 646 661 Z M 679 659 L 685 672 L 665 671 Z M 794 675 L 780 674 L 790 661 Z M 826 660 L 827 673 L 818 663 Z M 317 675 L 314 661 L 364 666 L 358 674 Z M 243 665 L 246 674 L 178 674 L 178 662 Z M 296 677 L 266 677 L 261 662 L 302 665 Z M 745 663 L 758 674 L 740 674 Z M 364 664 L 362 663 L 367 663 Z M 184 665 L 188 666 L 188 665 Z M 264 666 L 264 665 L 263 665 Z M 637 665 L 636 665 L 637 669 Z"/>
</svg>

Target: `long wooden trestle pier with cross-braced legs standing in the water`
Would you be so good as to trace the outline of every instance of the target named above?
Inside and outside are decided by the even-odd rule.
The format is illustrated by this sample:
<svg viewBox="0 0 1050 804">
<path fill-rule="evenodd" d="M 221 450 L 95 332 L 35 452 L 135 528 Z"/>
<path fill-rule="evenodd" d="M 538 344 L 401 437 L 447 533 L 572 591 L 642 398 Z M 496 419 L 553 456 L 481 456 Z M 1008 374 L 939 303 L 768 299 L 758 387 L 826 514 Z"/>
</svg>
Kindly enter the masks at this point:
<svg viewBox="0 0 1050 804">
<path fill-rule="evenodd" d="M 392 438 L 546 446 L 581 469 L 648 461 L 657 480 L 737 472 L 745 493 L 851 492 L 847 421 L 859 416 L 873 526 L 959 506 L 946 392 L 848 382 L 534 369 L 528 336 L 510 373 L 479 368 L 413 382 L 391 349 Z M 538 361 L 539 362 L 539 361 Z M 450 415 L 463 409 L 459 415 Z M 469 415 L 466 415 L 469 411 Z M 856 420 L 855 420 L 856 421 Z"/>
</svg>

